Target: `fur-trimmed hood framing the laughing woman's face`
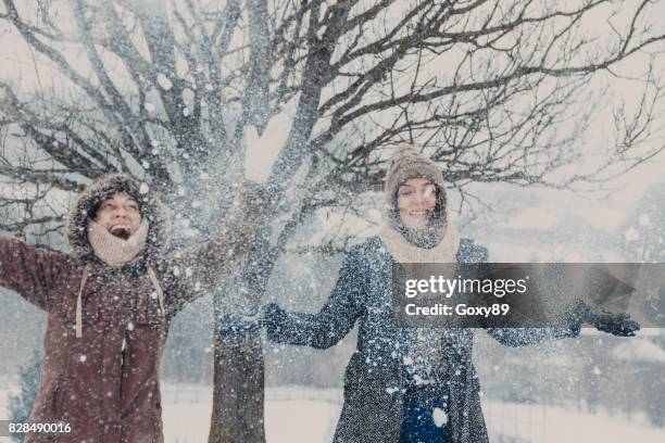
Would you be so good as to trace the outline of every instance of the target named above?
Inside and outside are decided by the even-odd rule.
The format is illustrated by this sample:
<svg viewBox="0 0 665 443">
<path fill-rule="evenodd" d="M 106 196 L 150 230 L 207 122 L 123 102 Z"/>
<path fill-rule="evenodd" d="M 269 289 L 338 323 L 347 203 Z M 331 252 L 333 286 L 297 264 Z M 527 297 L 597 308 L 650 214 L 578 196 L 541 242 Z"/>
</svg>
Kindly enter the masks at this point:
<svg viewBox="0 0 665 443">
<path fill-rule="evenodd" d="M 95 216 L 100 203 L 116 192 L 127 192 L 139 203 L 143 217 L 148 217 L 150 229 L 146 250 L 141 254 L 156 261 L 168 245 L 168 217 L 166 210 L 148 183 L 125 174 L 110 174 L 88 186 L 76 199 L 67 216 L 66 233 L 72 253 L 84 262 L 95 257 L 88 240 L 88 220 Z"/>
</svg>

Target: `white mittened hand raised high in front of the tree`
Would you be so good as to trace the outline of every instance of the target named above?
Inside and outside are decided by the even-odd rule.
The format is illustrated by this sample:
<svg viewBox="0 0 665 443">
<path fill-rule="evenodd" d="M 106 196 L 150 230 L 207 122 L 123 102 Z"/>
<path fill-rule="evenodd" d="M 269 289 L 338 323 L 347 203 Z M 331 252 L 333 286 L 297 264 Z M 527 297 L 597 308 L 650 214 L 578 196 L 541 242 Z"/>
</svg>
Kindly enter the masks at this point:
<svg viewBox="0 0 665 443">
<path fill-rule="evenodd" d="M 273 116 L 265 130 L 259 137 L 253 125 L 244 129 L 244 177 L 264 183 L 271 175 L 273 165 L 281 152 L 291 130 L 298 97 L 294 96 L 281 109 L 279 114 Z"/>
</svg>

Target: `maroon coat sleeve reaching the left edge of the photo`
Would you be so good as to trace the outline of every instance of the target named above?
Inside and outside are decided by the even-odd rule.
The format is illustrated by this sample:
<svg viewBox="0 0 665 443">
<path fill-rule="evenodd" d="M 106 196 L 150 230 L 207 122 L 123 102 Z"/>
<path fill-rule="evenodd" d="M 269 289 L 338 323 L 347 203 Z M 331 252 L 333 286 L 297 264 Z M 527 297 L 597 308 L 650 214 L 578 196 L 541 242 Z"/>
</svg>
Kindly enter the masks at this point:
<svg viewBox="0 0 665 443">
<path fill-rule="evenodd" d="M 0 286 L 17 292 L 43 311 L 53 305 L 51 289 L 68 255 L 18 239 L 0 238 Z"/>
</svg>

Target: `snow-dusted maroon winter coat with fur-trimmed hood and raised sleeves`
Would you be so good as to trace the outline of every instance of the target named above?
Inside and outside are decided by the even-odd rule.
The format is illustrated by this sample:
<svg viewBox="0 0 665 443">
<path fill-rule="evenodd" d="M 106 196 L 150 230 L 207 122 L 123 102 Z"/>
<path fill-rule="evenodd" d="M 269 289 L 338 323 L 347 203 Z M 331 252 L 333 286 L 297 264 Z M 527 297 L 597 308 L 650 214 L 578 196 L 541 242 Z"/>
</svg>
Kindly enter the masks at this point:
<svg viewBox="0 0 665 443">
<path fill-rule="evenodd" d="M 139 189 L 133 179 L 115 175 L 79 195 L 68 218 L 72 253 L 0 239 L 0 286 L 48 313 L 41 384 L 30 419 L 64 420 L 73 428 L 54 440 L 33 434 L 27 443 L 163 442 L 159 369 L 168 325 L 248 255 L 263 201 L 258 188 L 243 188 L 212 240 L 172 256 L 164 255 L 167 220 L 148 192 L 141 194 L 150 220 L 145 253 L 123 267 L 106 265 L 92 253 L 86 226 L 90 210 L 118 185 Z M 79 291 L 83 333 L 77 338 Z"/>
</svg>

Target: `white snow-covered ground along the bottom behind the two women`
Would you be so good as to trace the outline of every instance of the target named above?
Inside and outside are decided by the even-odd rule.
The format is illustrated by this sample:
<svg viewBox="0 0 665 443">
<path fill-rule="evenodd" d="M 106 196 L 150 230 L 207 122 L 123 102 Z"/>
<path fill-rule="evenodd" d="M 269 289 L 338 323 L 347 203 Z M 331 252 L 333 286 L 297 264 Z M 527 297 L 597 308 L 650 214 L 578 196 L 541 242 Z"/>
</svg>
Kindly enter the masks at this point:
<svg viewBox="0 0 665 443">
<path fill-rule="evenodd" d="M 0 385 L 0 420 L 7 419 L 7 397 Z M 212 392 L 197 384 L 165 384 L 166 443 L 204 443 L 210 427 Z M 328 443 L 341 408 L 339 390 L 273 388 L 266 392 L 266 438 L 269 443 Z M 589 415 L 560 407 L 485 402 L 492 443 L 662 443 L 665 429 L 603 414 Z M 8 441 L 0 438 L 0 441 Z M 371 442 L 368 442 L 371 443 Z"/>
</svg>

